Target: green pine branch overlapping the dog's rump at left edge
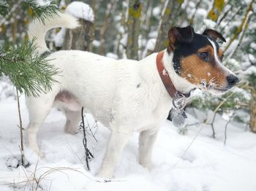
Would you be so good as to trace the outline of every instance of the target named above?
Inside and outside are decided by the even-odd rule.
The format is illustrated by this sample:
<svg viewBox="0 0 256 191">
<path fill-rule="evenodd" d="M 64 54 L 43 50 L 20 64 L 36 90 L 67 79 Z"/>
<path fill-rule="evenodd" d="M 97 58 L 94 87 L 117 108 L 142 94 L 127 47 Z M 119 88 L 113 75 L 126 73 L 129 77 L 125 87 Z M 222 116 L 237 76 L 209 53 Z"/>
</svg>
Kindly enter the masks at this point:
<svg viewBox="0 0 256 191">
<path fill-rule="evenodd" d="M 0 48 L 0 76 L 10 77 L 20 93 L 37 96 L 50 90 L 58 74 L 57 69 L 46 60 L 47 55 L 33 55 L 34 40 L 19 46 Z"/>
</svg>

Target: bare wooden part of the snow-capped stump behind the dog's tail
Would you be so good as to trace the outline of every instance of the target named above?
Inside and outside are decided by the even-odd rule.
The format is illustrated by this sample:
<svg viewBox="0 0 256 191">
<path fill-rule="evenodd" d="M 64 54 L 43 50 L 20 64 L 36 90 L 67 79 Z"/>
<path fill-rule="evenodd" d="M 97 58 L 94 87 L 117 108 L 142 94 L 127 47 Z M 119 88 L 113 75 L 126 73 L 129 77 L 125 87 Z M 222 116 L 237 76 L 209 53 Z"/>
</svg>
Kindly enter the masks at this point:
<svg viewBox="0 0 256 191">
<path fill-rule="evenodd" d="M 80 27 L 67 29 L 62 50 L 91 50 L 94 38 L 94 23 L 79 19 Z"/>
</svg>

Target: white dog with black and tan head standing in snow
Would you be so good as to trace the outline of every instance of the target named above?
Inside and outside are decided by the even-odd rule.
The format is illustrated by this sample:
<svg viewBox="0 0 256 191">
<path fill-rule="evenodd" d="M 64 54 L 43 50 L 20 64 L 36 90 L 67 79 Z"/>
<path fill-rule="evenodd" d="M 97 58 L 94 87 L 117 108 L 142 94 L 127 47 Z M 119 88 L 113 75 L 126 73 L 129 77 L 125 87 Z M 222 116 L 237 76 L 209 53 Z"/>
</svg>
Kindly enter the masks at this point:
<svg viewBox="0 0 256 191">
<path fill-rule="evenodd" d="M 45 34 L 50 28 L 78 26 L 75 17 L 59 13 L 45 24 L 34 20 L 29 26 L 29 39 L 35 38 L 41 55 L 49 51 Z M 26 97 L 29 147 L 42 157 L 37 132 L 53 106 L 64 111 L 64 130 L 71 134 L 78 128 L 83 106 L 111 130 L 97 176 L 113 177 L 121 152 L 134 132 L 140 133 L 139 163 L 151 170 L 154 141 L 173 107 L 173 99 L 197 87 L 219 95 L 238 82 L 238 77 L 222 66 L 217 39 L 225 42 L 225 38 L 217 31 L 206 29 L 197 34 L 192 26 L 172 27 L 167 37 L 166 50 L 141 61 L 114 60 L 80 50 L 50 53 L 49 63 L 60 74 L 54 77 L 56 82 L 48 93 Z"/>
</svg>

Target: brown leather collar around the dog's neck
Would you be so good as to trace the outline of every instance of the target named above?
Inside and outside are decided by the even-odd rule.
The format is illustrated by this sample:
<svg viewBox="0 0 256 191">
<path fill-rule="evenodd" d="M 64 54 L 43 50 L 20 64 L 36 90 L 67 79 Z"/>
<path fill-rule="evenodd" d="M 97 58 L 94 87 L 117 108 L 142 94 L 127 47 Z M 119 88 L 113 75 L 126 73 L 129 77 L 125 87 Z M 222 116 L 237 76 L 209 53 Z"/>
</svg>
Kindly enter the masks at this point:
<svg viewBox="0 0 256 191">
<path fill-rule="evenodd" d="M 157 70 L 159 72 L 159 75 L 170 97 L 171 98 L 180 97 L 179 96 L 180 93 L 178 93 L 178 91 L 176 90 L 176 87 L 173 85 L 173 82 L 170 79 L 170 76 L 167 70 L 165 69 L 164 63 L 162 61 L 163 56 L 164 56 L 164 50 L 157 54 Z"/>
</svg>

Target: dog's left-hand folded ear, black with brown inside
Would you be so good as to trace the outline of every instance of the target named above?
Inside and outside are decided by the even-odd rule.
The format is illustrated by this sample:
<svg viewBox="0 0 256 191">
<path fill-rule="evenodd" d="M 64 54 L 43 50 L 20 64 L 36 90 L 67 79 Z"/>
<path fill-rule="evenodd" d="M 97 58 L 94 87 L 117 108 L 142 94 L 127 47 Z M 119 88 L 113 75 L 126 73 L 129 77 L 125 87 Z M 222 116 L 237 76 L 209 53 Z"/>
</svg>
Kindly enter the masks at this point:
<svg viewBox="0 0 256 191">
<path fill-rule="evenodd" d="M 194 39 L 194 28 L 192 26 L 187 26 L 184 28 L 172 27 L 168 32 L 169 44 L 176 43 L 189 43 Z"/>
</svg>

